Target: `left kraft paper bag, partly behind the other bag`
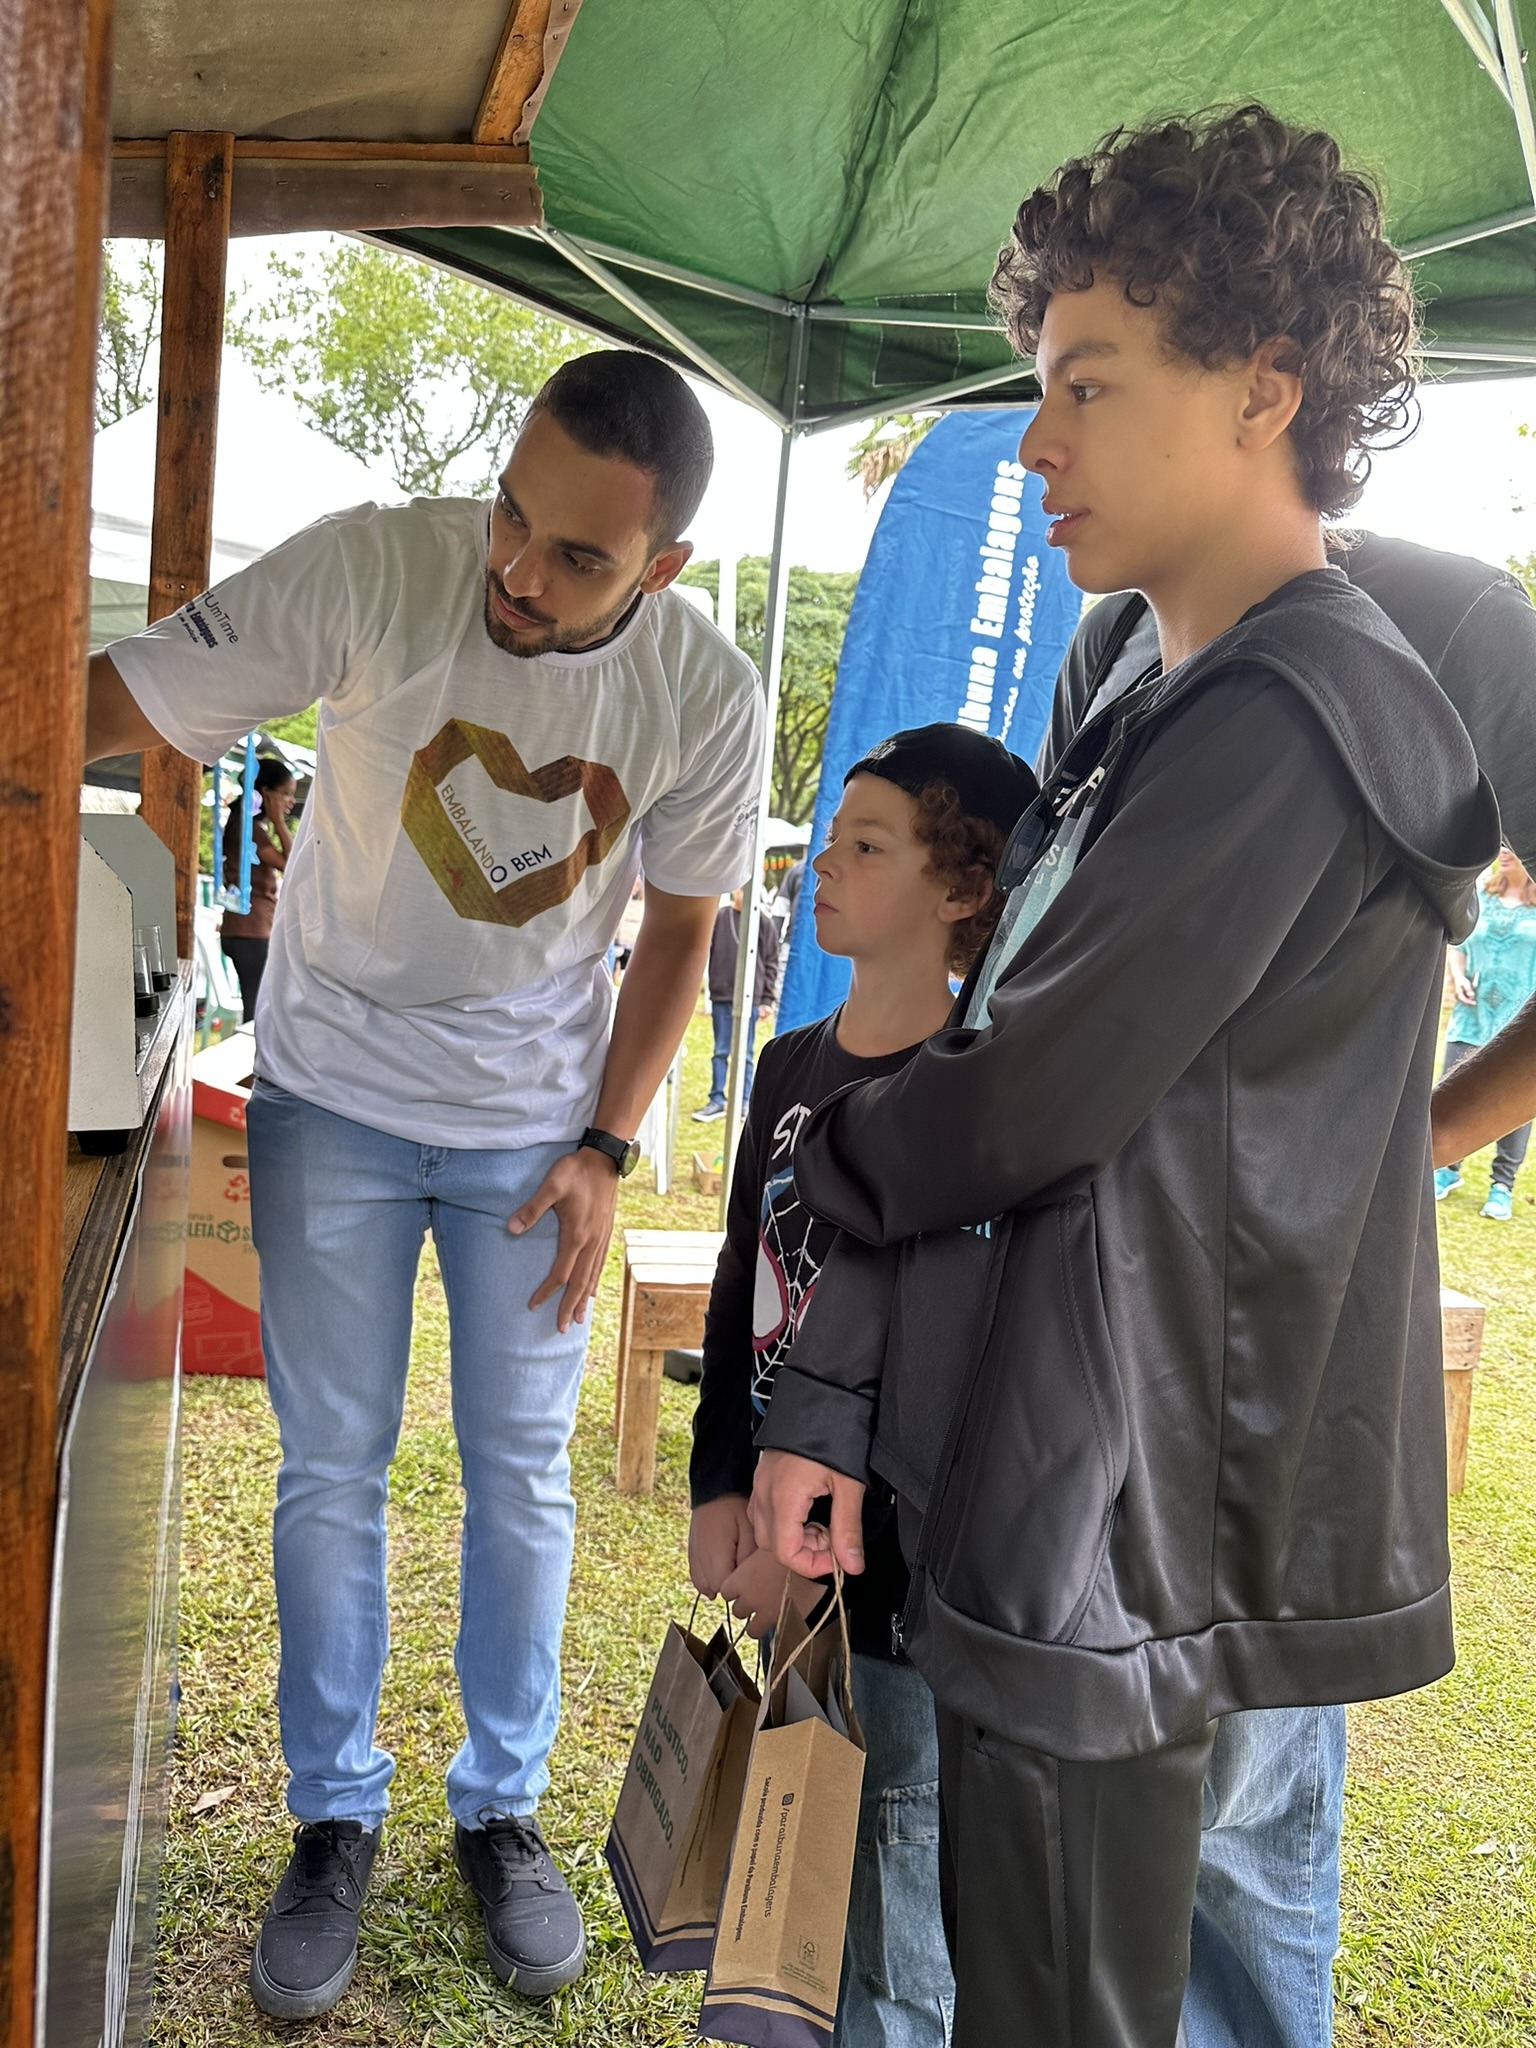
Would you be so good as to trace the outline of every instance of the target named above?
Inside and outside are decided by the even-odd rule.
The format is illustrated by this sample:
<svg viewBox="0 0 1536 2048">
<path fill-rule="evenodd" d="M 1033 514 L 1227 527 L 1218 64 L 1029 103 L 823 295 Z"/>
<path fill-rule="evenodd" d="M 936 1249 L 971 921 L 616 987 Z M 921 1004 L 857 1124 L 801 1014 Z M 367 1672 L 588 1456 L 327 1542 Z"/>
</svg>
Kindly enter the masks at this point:
<svg viewBox="0 0 1536 2048">
<path fill-rule="evenodd" d="M 694 1616 L 698 1602 L 694 1602 Z M 741 1806 L 758 1688 L 731 1636 L 668 1624 L 608 1831 L 641 1968 L 702 1970 Z"/>
</svg>

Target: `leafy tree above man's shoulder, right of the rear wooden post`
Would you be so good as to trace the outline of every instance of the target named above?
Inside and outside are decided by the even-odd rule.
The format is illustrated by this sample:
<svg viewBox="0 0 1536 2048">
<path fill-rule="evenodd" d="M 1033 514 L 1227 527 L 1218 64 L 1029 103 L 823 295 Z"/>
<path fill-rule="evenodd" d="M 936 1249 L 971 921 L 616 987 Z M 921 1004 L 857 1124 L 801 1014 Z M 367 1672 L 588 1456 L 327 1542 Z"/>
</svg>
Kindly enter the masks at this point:
<svg viewBox="0 0 1536 2048">
<path fill-rule="evenodd" d="M 528 399 L 590 346 L 483 285 L 354 244 L 274 256 L 229 338 L 328 440 L 426 498 L 489 492 Z"/>
</svg>

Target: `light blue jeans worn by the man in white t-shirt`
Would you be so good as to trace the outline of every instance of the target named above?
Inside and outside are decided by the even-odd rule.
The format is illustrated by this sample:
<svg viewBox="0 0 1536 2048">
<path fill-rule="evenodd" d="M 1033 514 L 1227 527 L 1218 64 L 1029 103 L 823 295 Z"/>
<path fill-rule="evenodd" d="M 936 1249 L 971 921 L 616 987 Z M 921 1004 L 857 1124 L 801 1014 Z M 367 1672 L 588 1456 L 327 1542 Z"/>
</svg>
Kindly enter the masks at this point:
<svg viewBox="0 0 1536 2048">
<path fill-rule="evenodd" d="M 567 1145 L 414 1145 L 258 1081 L 248 1110 L 266 1386 L 283 1440 L 272 1563 L 289 1808 L 373 1827 L 393 1757 L 375 1743 L 389 1653 L 385 1499 L 399 1440 L 422 1237 L 449 1296 L 465 1489 L 455 1669 L 467 1737 L 449 1806 L 467 1827 L 532 1812 L 559 1720 L 575 1503 L 567 1442 L 586 1327 L 528 1313 L 555 1217 L 506 1219 Z"/>
</svg>

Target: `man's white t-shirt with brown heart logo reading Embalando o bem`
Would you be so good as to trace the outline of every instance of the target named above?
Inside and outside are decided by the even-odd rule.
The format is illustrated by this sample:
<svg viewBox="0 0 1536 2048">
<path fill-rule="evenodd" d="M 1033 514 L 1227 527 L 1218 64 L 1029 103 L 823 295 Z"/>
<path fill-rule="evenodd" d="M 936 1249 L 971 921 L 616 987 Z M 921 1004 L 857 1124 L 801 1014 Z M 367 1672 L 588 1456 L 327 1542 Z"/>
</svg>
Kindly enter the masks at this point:
<svg viewBox="0 0 1536 2048">
<path fill-rule="evenodd" d="M 672 590 L 600 647 L 510 655 L 485 633 L 485 543 L 473 500 L 358 506 L 106 649 L 203 762 L 319 698 L 256 1063 L 422 1145 L 580 1135 L 635 874 L 715 897 L 756 844 L 745 655 Z"/>
</svg>

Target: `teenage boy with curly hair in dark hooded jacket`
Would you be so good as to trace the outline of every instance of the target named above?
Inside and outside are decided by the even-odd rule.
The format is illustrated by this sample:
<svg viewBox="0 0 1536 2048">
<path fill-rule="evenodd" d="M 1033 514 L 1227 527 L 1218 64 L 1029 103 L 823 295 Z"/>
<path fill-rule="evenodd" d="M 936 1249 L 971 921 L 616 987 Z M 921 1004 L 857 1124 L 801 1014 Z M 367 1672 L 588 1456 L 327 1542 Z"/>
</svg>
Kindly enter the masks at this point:
<svg viewBox="0 0 1536 2048">
<path fill-rule="evenodd" d="M 858 1571 L 897 1491 L 956 2048 L 1171 2048 L 1217 1718 L 1452 1663 L 1427 1110 L 1497 811 L 1323 551 L 1415 340 L 1337 145 L 1262 106 L 1116 131 L 995 295 L 1051 541 L 1147 596 L 1159 659 L 1016 831 L 961 1026 L 801 1135 L 842 1237 L 754 1526 Z"/>
</svg>

